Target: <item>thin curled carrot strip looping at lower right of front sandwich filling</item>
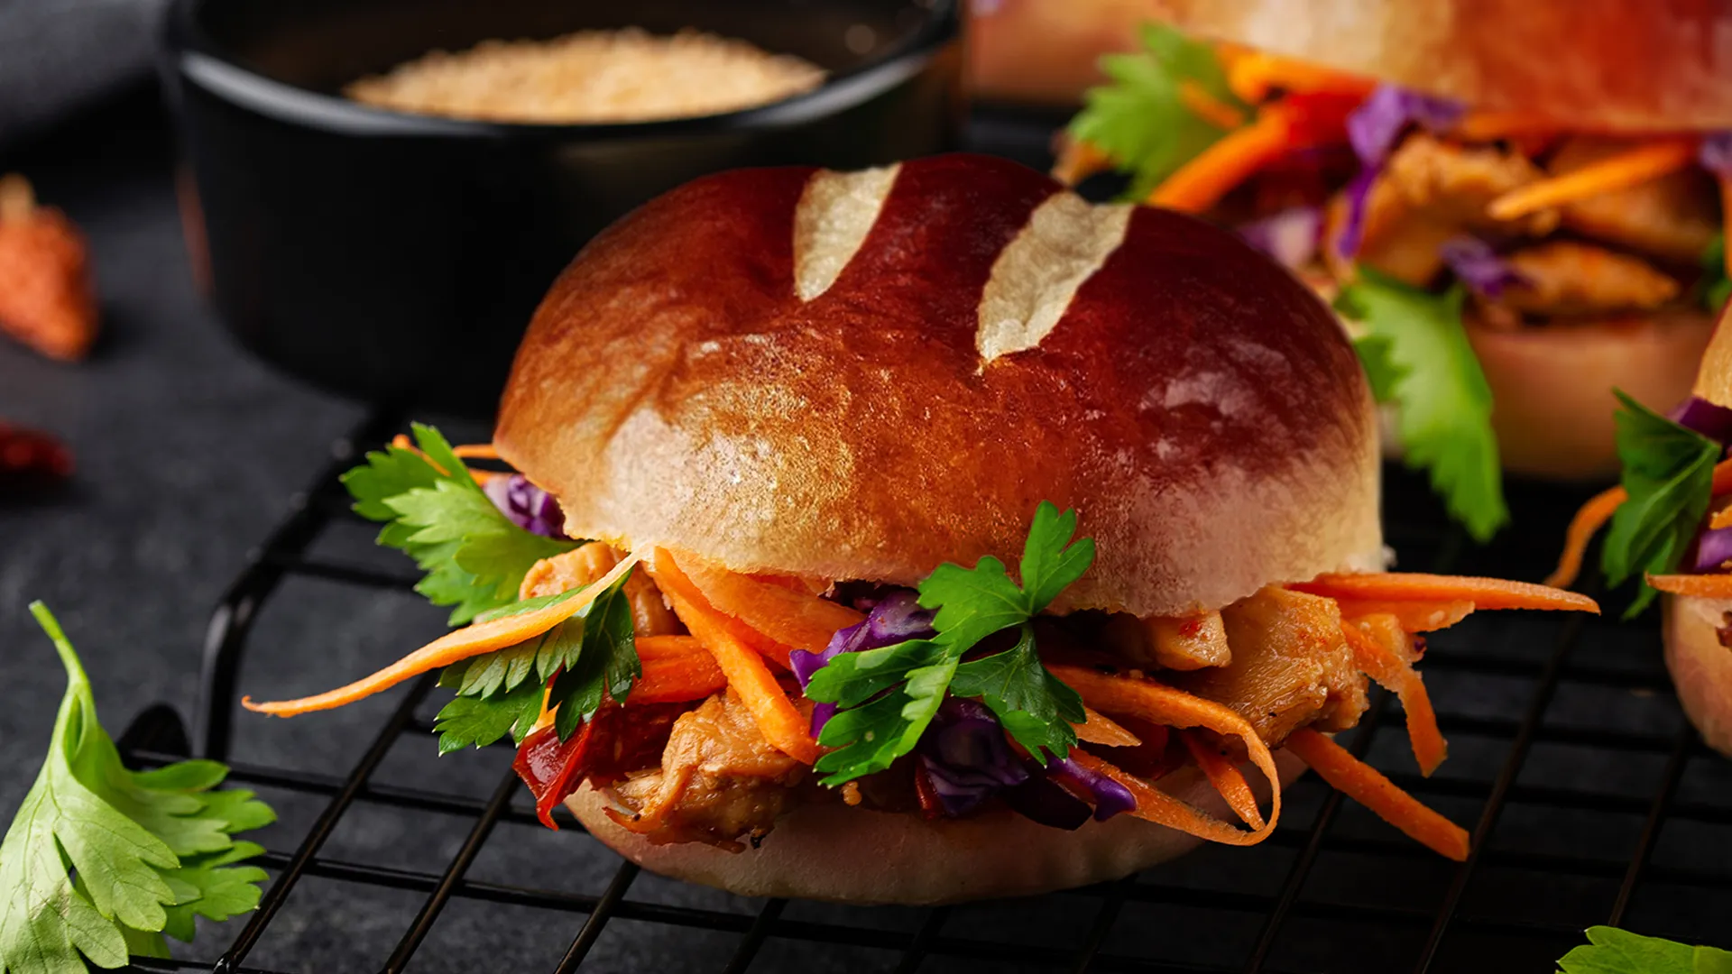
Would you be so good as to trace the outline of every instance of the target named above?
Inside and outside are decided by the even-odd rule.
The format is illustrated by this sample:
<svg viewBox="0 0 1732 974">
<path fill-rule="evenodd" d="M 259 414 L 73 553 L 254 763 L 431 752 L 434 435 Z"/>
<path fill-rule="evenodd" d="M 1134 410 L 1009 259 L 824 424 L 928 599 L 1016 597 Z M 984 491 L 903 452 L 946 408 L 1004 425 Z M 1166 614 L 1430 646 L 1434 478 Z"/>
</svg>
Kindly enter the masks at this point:
<svg viewBox="0 0 1732 974">
<path fill-rule="evenodd" d="M 1257 771 L 1263 771 L 1263 775 L 1270 780 L 1271 801 L 1268 821 L 1264 821 L 1261 828 L 1242 832 L 1226 821 L 1202 815 L 1195 808 L 1167 795 L 1166 792 L 1160 792 L 1155 787 L 1150 787 L 1145 782 L 1140 782 L 1131 775 L 1126 775 L 1124 771 L 1119 771 L 1117 768 L 1112 768 L 1110 764 L 1102 768 L 1103 773 L 1112 775 L 1115 782 L 1131 789 L 1131 794 L 1136 795 L 1134 815 L 1138 818 L 1148 818 L 1150 821 L 1159 821 L 1160 825 L 1179 828 L 1212 842 L 1226 842 L 1230 846 L 1254 846 L 1268 839 L 1275 830 L 1275 823 L 1282 816 L 1282 776 L 1275 768 L 1275 756 L 1270 754 L 1270 745 L 1263 743 L 1263 738 L 1257 737 L 1256 728 L 1245 723 L 1245 718 L 1240 718 L 1237 712 L 1216 704 L 1214 700 L 1204 700 L 1202 697 L 1185 693 L 1183 690 L 1176 690 L 1152 679 L 1108 676 L 1089 667 L 1067 664 L 1051 664 L 1048 669 L 1053 676 L 1076 690 L 1088 705 L 1103 712 L 1133 714 L 1162 726 L 1207 728 L 1219 735 L 1237 737 L 1245 743 L 1245 752 L 1251 757 L 1251 763 L 1256 764 Z M 1077 761 L 1089 757 L 1082 752 L 1082 749 L 1072 749 L 1070 756 Z M 1114 775 L 1114 771 L 1117 773 Z"/>
</svg>

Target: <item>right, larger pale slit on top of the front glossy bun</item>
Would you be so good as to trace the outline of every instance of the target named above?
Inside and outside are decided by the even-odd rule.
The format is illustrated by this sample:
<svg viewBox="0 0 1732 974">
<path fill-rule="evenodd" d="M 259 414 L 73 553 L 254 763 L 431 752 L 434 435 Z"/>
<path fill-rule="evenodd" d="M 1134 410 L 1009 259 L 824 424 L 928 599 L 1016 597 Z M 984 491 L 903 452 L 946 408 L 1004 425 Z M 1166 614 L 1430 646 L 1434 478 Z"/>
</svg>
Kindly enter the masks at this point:
<svg viewBox="0 0 1732 974">
<path fill-rule="evenodd" d="M 1037 348 L 1082 282 L 1124 243 L 1129 224 L 1129 205 L 1095 206 L 1074 192 L 1041 203 L 998 255 L 980 293 L 980 367 Z"/>
</svg>

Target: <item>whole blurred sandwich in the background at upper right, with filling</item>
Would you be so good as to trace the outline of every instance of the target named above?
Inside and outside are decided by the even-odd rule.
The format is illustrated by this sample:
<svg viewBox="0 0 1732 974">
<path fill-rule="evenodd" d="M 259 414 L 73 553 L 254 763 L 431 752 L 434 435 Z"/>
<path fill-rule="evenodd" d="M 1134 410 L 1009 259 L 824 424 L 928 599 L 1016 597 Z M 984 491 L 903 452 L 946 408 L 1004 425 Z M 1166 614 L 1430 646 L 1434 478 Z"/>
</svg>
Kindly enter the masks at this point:
<svg viewBox="0 0 1732 974">
<path fill-rule="evenodd" d="M 1058 175 L 1126 172 L 1334 298 L 1396 444 L 1476 537 L 1507 520 L 1500 468 L 1616 471 L 1612 386 L 1689 392 L 1725 291 L 1720 14 L 1160 7 L 1193 33 L 1107 59 Z"/>
</svg>

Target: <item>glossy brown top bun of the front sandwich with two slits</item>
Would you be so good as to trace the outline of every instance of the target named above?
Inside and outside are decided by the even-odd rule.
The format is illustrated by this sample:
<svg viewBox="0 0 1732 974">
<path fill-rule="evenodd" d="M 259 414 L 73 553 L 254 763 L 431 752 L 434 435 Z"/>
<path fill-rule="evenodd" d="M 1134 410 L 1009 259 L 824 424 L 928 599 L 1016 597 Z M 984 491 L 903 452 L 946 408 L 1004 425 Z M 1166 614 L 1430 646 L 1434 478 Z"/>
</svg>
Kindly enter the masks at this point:
<svg viewBox="0 0 1732 974">
<path fill-rule="evenodd" d="M 1377 423 L 1328 308 L 1231 232 L 987 156 L 705 177 L 535 312 L 501 456 L 573 537 L 913 584 L 1076 508 L 1060 610 L 1375 568 Z"/>
</svg>

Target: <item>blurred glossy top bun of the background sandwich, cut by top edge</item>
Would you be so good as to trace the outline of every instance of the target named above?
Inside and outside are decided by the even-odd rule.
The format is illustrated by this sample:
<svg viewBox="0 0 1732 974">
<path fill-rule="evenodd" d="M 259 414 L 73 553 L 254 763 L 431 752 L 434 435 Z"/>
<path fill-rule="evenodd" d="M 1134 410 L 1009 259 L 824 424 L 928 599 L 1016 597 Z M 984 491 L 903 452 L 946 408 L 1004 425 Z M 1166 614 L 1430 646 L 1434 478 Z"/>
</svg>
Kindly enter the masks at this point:
<svg viewBox="0 0 1732 974">
<path fill-rule="evenodd" d="M 1154 0 L 1176 26 L 1580 128 L 1732 127 L 1732 0 Z"/>
</svg>

